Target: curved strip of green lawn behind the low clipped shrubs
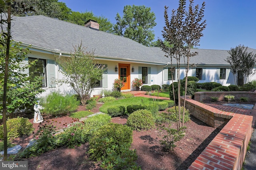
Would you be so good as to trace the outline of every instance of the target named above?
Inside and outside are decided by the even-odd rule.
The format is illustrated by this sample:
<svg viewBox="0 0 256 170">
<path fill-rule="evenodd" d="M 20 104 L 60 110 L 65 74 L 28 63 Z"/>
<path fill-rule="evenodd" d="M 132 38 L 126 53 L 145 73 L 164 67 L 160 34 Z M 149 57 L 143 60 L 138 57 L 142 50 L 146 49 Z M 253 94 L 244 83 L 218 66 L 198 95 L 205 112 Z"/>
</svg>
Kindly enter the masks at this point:
<svg viewBox="0 0 256 170">
<path fill-rule="evenodd" d="M 158 100 L 163 101 L 163 100 Z M 108 113 L 108 108 L 112 106 L 124 106 L 127 107 L 129 105 L 149 105 L 150 102 L 153 102 L 153 98 L 144 98 L 144 97 L 133 97 L 116 100 L 114 102 L 108 102 L 100 107 L 100 111 L 103 113 Z"/>
</svg>

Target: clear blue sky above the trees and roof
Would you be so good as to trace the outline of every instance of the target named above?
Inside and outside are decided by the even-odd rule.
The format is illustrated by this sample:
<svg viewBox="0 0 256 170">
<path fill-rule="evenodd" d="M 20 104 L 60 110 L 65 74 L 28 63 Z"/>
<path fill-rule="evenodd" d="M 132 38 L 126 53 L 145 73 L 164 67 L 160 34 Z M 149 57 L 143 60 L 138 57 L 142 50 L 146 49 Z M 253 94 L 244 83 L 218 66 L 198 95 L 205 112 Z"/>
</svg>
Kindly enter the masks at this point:
<svg viewBox="0 0 256 170">
<path fill-rule="evenodd" d="M 155 41 L 162 39 L 164 6 L 168 14 L 178 8 L 178 0 L 59 0 L 75 12 L 92 12 L 104 16 L 113 24 L 119 13 L 122 17 L 124 6 L 136 5 L 150 7 L 156 16 L 153 28 Z M 206 3 L 204 20 L 206 28 L 200 39 L 199 49 L 230 50 L 238 45 L 256 49 L 256 1 L 255 0 L 194 0 L 194 5 Z M 189 2 L 187 0 L 187 6 Z"/>
</svg>

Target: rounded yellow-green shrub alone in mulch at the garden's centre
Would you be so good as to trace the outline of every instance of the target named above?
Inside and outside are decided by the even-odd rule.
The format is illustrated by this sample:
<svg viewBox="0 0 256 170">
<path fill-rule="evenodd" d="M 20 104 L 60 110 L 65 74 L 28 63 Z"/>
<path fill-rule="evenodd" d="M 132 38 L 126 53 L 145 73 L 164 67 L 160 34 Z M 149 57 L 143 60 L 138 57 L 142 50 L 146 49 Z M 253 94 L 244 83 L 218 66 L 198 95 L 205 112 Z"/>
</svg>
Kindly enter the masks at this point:
<svg viewBox="0 0 256 170">
<path fill-rule="evenodd" d="M 148 130 L 154 127 L 154 117 L 152 113 L 146 109 L 134 111 L 128 116 L 127 123 L 136 131 Z"/>
</svg>

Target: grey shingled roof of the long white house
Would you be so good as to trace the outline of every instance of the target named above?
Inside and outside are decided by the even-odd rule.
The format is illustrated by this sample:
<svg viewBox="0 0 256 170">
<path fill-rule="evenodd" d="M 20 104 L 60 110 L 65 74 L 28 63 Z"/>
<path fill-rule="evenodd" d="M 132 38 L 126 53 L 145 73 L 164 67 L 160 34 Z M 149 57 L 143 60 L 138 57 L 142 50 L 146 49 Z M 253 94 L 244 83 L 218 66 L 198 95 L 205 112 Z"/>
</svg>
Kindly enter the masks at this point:
<svg viewBox="0 0 256 170">
<path fill-rule="evenodd" d="M 15 41 L 57 53 L 69 54 L 74 51 L 74 45 L 82 42 L 86 50 L 95 50 L 95 55 L 100 58 L 154 64 L 170 62 L 158 47 L 146 47 L 126 37 L 46 16 L 14 16 L 12 37 Z M 190 63 L 228 64 L 224 61 L 228 56 L 228 50 L 192 49 L 192 51 L 198 51 L 198 56 L 192 57 Z M 256 53 L 256 50 L 254 52 Z"/>
</svg>

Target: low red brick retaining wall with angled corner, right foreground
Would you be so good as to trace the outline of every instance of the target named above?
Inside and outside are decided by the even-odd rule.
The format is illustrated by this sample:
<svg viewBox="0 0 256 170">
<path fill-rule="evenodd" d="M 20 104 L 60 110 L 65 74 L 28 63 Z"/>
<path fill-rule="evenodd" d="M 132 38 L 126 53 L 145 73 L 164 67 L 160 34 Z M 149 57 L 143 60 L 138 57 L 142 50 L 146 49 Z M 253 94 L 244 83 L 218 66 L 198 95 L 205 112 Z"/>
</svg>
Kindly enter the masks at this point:
<svg viewBox="0 0 256 170">
<path fill-rule="evenodd" d="M 208 125 L 222 128 L 188 170 L 240 170 L 252 135 L 253 117 L 220 111 L 192 99 L 186 99 L 186 108 Z"/>
</svg>

